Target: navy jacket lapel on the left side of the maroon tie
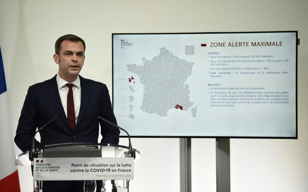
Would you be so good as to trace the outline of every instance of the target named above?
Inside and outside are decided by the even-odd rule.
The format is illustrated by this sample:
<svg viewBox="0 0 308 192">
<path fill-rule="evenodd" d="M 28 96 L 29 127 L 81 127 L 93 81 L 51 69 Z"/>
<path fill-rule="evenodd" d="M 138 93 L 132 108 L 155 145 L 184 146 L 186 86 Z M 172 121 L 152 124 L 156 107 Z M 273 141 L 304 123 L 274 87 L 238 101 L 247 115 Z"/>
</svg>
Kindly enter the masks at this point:
<svg viewBox="0 0 308 192">
<path fill-rule="evenodd" d="M 58 113 L 60 114 L 60 116 L 64 120 L 64 122 L 66 123 L 67 127 L 69 127 L 71 129 L 70 124 L 68 123 L 67 117 L 65 115 L 62 103 L 61 103 L 56 76 L 54 76 L 49 81 L 50 85 L 49 85 L 48 89 L 49 89 L 52 101 L 55 104 L 55 107 L 56 107 Z"/>
</svg>

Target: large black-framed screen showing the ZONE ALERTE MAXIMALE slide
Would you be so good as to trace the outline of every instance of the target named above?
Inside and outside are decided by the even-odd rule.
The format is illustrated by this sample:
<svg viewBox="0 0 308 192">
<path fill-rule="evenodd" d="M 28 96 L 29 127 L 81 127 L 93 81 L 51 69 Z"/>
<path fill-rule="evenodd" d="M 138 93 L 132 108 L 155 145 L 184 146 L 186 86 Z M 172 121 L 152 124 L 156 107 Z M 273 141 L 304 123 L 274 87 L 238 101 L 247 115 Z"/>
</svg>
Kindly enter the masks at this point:
<svg viewBox="0 0 308 192">
<path fill-rule="evenodd" d="M 113 110 L 131 136 L 297 138 L 297 31 L 116 33 L 112 44 Z"/>
</svg>

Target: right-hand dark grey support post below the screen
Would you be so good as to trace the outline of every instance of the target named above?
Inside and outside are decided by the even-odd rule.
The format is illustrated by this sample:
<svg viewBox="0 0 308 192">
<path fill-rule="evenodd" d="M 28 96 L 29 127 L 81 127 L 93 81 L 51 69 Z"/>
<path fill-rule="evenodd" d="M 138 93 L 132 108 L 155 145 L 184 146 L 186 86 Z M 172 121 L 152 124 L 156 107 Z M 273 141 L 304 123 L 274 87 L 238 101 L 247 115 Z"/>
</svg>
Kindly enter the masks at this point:
<svg viewBox="0 0 308 192">
<path fill-rule="evenodd" d="M 216 191 L 230 192 L 230 139 L 216 138 Z"/>
</svg>

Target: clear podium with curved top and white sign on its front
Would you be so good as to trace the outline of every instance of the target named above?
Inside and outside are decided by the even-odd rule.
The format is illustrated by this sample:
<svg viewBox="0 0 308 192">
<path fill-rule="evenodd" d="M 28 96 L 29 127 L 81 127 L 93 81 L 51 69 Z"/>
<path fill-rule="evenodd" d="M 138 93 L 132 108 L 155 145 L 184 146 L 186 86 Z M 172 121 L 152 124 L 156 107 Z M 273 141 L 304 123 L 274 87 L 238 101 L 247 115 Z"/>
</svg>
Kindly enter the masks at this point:
<svg viewBox="0 0 308 192">
<path fill-rule="evenodd" d="M 29 155 L 34 157 L 33 161 L 29 160 Z M 62 143 L 23 152 L 16 156 L 15 164 L 31 166 L 33 190 L 37 192 L 44 191 L 42 181 L 65 180 L 85 181 L 86 192 L 91 192 L 94 185 L 96 188 L 95 180 L 103 181 L 99 191 L 124 192 L 128 191 L 129 181 L 134 178 L 134 162 L 139 159 L 138 150 L 122 145 Z"/>
</svg>

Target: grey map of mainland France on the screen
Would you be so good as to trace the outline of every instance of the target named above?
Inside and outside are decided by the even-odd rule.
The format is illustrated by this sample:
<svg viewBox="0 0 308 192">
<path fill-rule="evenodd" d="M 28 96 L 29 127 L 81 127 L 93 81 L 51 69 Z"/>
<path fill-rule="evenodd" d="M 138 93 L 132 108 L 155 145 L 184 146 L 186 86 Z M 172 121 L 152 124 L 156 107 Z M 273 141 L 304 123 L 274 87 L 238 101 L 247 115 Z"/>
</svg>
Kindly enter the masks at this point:
<svg viewBox="0 0 308 192">
<path fill-rule="evenodd" d="M 189 100 L 188 84 L 193 62 L 174 56 L 168 49 L 160 48 L 160 54 L 151 61 L 142 58 L 143 65 L 127 65 L 128 71 L 135 73 L 144 85 L 141 110 L 167 116 L 168 110 L 181 107 L 186 111 L 193 105 Z"/>
</svg>

